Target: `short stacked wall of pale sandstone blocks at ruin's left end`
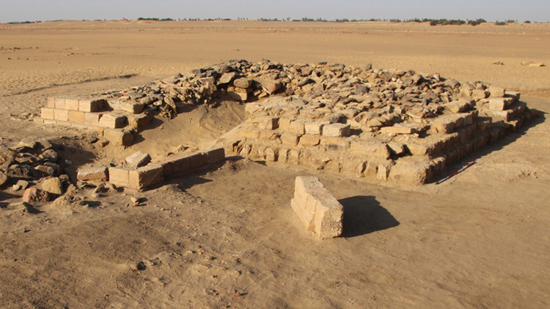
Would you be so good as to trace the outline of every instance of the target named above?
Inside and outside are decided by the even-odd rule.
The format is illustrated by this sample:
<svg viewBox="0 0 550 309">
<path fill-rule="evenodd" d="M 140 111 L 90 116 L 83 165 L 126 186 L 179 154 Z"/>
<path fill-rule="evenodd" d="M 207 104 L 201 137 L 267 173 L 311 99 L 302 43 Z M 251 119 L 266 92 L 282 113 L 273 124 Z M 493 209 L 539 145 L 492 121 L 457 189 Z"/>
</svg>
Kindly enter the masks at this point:
<svg viewBox="0 0 550 309">
<path fill-rule="evenodd" d="M 127 147 L 134 142 L 133 131 L 142 130 L 151 119 L 146 115 L 132 114 L 139 109 L 117 107 L 112 111 L 113 108 L 105 99 L 50 97 L 47 106 L 41 110 L 41 121 L 44 124 L 95 130 L 110 143 Z"/>
</svg>

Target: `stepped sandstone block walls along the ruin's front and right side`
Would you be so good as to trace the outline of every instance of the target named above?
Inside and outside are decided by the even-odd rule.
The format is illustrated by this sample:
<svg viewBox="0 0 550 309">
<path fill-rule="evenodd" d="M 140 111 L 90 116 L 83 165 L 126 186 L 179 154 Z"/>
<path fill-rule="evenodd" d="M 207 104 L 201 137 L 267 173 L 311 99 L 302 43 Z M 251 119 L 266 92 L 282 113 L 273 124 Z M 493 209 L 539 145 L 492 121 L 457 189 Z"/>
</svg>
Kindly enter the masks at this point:
<svg viewBox="0 0 550 309">
<path fill-rule="evenodd" d="M 461 98 L 419 119 L 396 105 L 386 116 L 396 121 L 376 128 L 302 99 L 271 98 L 247 104 L 249 118 L 232 151 L 359 179 L 422 184 L 532 116 L 518 93 L 488 96 Z"/>
</svg>

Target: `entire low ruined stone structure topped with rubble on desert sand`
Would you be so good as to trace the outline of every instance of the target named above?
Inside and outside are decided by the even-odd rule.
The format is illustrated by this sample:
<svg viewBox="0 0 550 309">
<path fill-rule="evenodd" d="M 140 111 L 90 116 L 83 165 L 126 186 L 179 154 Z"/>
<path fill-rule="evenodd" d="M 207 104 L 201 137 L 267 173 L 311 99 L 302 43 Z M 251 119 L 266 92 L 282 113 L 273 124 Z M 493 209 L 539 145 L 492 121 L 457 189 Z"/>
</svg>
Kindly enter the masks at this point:
<svg viewBox="0 0 550 309">
<path fill-rule="evenodd" d="M 227 153 L 367 181 L 423 184 L 536 115 L 518 92 L 439 74 L 233 60 L 141 87 L 50 98 L 38 121 L 93 129 L 99 142 L 128 147 L 153 117 L 171 119 L 189 106 L 222 100 L 246 104 L 247 114 L 239 134 L 220 139 L 224 149 L 139 167 L 134 184 L 127 175 L 137 167 L 102 169 L 100 178 L 145 189 L 151 181 L 139 175 L 149 173 L 156 183 L 214 162 L 213 151 L 218 161 Z"/>
</svg>

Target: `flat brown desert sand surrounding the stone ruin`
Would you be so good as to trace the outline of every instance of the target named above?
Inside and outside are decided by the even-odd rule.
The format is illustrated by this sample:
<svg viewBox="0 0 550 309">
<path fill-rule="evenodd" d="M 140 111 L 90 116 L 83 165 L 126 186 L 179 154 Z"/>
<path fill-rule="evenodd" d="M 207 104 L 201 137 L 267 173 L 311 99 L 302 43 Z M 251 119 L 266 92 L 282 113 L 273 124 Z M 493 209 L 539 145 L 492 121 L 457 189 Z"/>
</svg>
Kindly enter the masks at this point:
<svg viewBox="0 0 550 309">
<path fill-rule="evenodd" d="M 0 142 L 65 137 L 79 166 L 136 150 L 200 148 L 243 107 L 199 108 L 130 149 L 93 149 L 83 133 L 20 120 L 52 95 L 142 85 L 229 59 L 328 61 L 439 72 L 522 92 L 543 115 L 441 184 L 368 184 L 250 161 L 88 207 L 21 212 L 0 195 L 3 308 L 548 308 L 550 25 L 46 22 L 0 24 Z M 504 65 L 496 65 L 502 62 Z M 344 205 L 343 237 L 307 234 L 290 208 L 294 179 L 316 175 Z M 142 197 L 139 207 L 130 196 Z M 90 197 L 90 200 L 92 197 Z M 138 262 L 144 270 L 134 270 Z"/>
</svg>

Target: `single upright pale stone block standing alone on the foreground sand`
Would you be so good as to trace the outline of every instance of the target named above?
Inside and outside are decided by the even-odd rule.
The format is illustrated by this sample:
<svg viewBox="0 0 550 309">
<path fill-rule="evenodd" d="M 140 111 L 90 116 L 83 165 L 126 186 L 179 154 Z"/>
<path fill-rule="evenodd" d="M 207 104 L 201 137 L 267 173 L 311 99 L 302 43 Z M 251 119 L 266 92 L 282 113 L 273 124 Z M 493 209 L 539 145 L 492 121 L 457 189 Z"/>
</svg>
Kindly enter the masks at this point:
<svg viewBox="0 0 550 309">
<path fill-rule="evenodd" d="M 296 177 L 292 209 L 320 238 L 342 235 L 344 207 L 316 177 Z"/>
</svg>

